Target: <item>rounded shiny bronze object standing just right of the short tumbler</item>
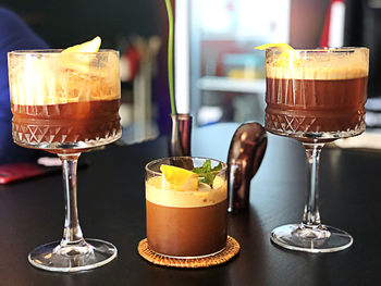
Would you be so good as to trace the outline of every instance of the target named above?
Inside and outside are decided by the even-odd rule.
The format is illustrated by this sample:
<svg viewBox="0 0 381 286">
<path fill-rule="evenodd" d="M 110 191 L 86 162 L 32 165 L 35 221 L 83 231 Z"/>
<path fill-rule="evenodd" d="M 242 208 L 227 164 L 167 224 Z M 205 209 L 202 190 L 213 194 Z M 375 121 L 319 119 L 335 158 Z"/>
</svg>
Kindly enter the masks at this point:
<svg viewBox="0 0 381 286">
<path fill-rule="evenodd" d="M 228 212 L 248 209 L 250 181 L 267 147 L 265 128 L 256 122 L 242 124 L 234 133 L 228 154 Z"/>
</svg>

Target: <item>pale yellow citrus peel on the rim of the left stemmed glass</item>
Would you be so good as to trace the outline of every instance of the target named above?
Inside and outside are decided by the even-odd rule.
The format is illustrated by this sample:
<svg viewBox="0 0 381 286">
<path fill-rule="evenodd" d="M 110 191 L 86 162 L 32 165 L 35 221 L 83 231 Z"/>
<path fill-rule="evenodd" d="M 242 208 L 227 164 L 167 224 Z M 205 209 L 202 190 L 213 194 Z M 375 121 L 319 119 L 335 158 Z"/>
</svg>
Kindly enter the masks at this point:
<svg viewBox="0 0 381 286">
<path fill-rule="evenodd" d="M 96 55 L 86 53 L 98 52 L 100 43 L 101 39 L 97 36 L 93 40 L 63 50 L 61 52 L 61 63 L 63 67 L 82 74 L 88 73 L 90 63 L 96 59 Z"/>
</svg>

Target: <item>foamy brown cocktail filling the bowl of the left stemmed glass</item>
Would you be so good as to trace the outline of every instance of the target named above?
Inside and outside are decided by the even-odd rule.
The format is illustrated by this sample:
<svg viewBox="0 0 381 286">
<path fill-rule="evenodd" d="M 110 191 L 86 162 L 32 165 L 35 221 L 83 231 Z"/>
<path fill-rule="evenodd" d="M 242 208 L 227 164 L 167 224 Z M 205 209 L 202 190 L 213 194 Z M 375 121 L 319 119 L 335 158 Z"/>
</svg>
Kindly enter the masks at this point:
<svg viewBox="0 0 381 286">
<path fill-rule="evenodd" d="M 71 153 L 121 136 L 118 53 L 25 57 L 13 52 L 9 58 L 16 144 Z"/>
</svg>

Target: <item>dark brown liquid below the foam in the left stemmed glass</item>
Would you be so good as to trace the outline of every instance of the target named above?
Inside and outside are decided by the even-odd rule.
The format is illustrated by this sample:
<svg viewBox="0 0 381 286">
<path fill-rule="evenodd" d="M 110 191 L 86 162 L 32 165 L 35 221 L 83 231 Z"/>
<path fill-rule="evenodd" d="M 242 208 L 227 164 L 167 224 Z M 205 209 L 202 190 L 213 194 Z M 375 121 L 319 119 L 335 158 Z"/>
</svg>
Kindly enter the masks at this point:
<svg viewBox="0 0 381 286">
<path fill-rule="evenodd" d="M 119 99 L 49 105 L 12 104 L 13 139 L 25 147 L 45 146 L 46 149 L 54 149 L 49 146 L 57 144 L 70 146 L 111 139 L 121 132 L 119 105 Z"/>
</svg>

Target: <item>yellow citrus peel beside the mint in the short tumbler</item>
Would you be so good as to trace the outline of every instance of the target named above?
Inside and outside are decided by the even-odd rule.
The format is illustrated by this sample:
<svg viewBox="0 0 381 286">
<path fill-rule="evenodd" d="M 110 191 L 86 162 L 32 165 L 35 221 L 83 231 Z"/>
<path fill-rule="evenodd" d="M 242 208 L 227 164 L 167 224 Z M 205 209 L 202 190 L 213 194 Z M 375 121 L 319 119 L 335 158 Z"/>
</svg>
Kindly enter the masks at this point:
<svg viewBox="0 0 381 286">
<path fill-rule="evenodd" d="M 198 175 L 186 169 L 162 164 L 160 171 L 175 190 L 197 190 Z"/>
</svg>

